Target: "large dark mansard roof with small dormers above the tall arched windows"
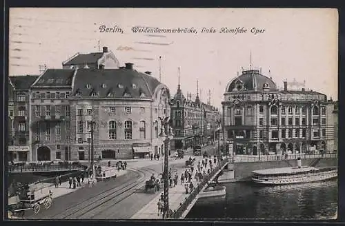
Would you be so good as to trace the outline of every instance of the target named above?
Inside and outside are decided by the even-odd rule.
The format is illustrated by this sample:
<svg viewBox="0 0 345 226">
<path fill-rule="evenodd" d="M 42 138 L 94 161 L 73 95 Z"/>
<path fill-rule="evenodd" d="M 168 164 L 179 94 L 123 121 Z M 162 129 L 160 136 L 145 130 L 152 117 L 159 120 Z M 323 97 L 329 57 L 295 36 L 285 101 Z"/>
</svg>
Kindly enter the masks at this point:
<svg viewBox="0 0 345 226">
<path fill-rule="evenodd" d="M 118 69 L 79 69 L 73 82 L 72 96 L 152 99 L 160 84 L 154 77 L 137 72 L 131 66 Z"/>
</svg>

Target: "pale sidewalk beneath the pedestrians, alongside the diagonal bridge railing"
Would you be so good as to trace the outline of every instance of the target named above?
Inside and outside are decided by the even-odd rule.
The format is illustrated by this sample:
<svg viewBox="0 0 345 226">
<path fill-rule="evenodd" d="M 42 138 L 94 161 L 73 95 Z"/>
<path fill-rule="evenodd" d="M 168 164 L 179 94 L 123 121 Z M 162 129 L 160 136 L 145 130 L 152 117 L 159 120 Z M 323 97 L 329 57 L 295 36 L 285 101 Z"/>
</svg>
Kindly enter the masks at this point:
<svg viewBox="0 0 345 226">
<path fill-rule="evenodd" d="M 208 158 L 209 159 L 209 158 Z M 213 160 L 213 158 L 211 158 Z M 197 170 L 197 164 L 202 160 L 202 156 L 195 156 L 195 163 L 194 163 L 194 169 Z M 186 161 L 186 159 L 183 159 L 183 161 Z M 213 163 L 214 165 L 214 163 Z M 207 170 L 210 169 L 210 165 L 208 164 L 206 167 L 206 175 Z M 186 194 L 186 189 L 184 188 L 184 184 L 181 184 L 181 174 L 184 173 L 186 170 L 186 167 L 177 168 L 177 175 L 179 176 L 179 180 L 177 182 L 176 187 L 169 188 L 169 209 L 174 212 L 174 210 L 177 210 L 179 206 L 184 203 L 186 198 L 190 194 Z M 192 174 L 192 183 L 194 187 L 197 187 L 199 184 L 199 181 L 195 181 L 195 170 Z M 157 193 L 157 196 L 150 201 L 147 205 L 145 205 L 137 214 L 133 215 L 132 219 L 161 219 L 162 214 L 158 215 L 158 201 L 161 198 L 161 193 L 163 191 L 164 187 L 161 187 L 159 190 L 159 193 Z"/>
</svg>

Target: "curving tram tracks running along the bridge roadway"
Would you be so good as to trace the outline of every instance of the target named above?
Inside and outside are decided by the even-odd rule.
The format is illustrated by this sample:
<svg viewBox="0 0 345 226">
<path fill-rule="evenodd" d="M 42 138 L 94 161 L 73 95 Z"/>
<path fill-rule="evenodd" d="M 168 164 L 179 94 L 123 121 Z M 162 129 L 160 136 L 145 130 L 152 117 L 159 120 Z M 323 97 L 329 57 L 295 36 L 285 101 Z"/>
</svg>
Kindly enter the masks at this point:
<svg viewBox="0 0 345 226">
<path fill-rule="evenodd" d="M 128 181 L 119 187 L 112 187 L 106 191 L 100 192 L 99 194 L 88 198 L 86 201 L 81 201 L 68 207 L 68 209 L 59 214 L 50 216 L 50 218 L 90 218 L 90 215 L 96 216 L 106 209 L 105 206 L 116 205 L 131 194 L 135 193 L 136 188 L 142 187 L 141 184 L 146 181 L 150 173 L 156 173 L 155 170 L 148 167 L 132 171 L 137 173 L 137 177 L 134 180 Z M 132 190 L 132 192 L 130 192 L 130 190 Z"/>
</svg>

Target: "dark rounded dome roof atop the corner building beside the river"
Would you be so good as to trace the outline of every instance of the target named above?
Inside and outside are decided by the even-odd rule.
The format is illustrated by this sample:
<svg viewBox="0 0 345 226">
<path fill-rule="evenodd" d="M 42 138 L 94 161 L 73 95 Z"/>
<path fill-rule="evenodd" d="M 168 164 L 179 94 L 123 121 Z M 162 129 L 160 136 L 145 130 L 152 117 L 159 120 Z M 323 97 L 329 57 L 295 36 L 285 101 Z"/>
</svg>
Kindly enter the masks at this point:
<svg viewBox="0 0 345 226">
<path fill-rule="evenodd" d="M 259 70 L 246 70 L 240 76 L 230 81 L 226 86 L 226 92 L 236 92 L 245 90 L 277 90 L 277 85 L 272 80 L 259 73 Z"/>
</svg>

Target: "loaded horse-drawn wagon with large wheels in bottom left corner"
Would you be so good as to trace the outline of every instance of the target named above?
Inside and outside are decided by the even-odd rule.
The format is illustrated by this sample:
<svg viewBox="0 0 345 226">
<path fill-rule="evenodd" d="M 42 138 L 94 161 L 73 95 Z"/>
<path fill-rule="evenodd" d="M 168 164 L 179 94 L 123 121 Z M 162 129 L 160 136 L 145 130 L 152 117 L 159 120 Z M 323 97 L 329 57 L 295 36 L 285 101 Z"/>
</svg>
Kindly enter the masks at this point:
<svg viewBox="0 0 345 226">
<path fill-rule="evenodd" d="M 29 187 L 28 185 L 17 190 L 17 194 L 8 198 L 8 216 L 23 216 L 24 212 L 32 209 L 38 214 L 41 205 L 49 209 L 52 205 L 52 192 L 49 187 Z"/>
</svg>

